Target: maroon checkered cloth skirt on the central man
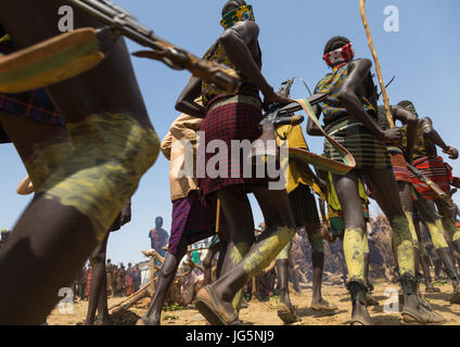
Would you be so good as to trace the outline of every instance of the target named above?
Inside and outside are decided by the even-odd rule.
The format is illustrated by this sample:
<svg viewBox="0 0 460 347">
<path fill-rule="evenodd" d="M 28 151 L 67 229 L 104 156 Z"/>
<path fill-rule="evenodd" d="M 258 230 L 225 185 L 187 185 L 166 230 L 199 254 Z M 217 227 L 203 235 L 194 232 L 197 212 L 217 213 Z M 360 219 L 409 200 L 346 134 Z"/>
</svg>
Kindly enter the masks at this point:
<svg viewBox="0 0 460 347">
<path fill-rule="evenodd" d="M 231 103 L 222 106 L 217 106 L 207 112 L 203 120 L 201 131 L 205 132 L 205 141 L 199 145 L 199 163 L 209 163 L 215 157 L 216 153 L 205 153 L 200 146 L 208 144 L 213 140 L 220 140 L 225 143 L 228 153 L 227 163 L 217 163 L 216 170 L 226 172 L 226 177 L 213 178 L 208 172 L 204 172 L 204 178 L 199 178 L 200 193 L 203 196 L 215 193 L 222 188 L 242 184 L 247 192 L 251 192 L 252 187 L 263 185 L 267 187 L 268 178 L 256 178 L 256 170 L 252 168 L 251 177 L 243 178 L 243 160 L 246 160 L 244 153 L 240 150 L 240 160 L 232 160 L 231 141 L 250 140 L 254 142 L 260 134 L 259 123 L 261 120 L 261 112 L 254 105 L 246 103 Z M 205 155 L 203 160 L 202 155 Z M 225 165 L 225 167 L 220 167 Z M 207 170 L 206 170 L 207 171 Z M 223 175 L 222 175 L 223 176 Z"/>
</svg>

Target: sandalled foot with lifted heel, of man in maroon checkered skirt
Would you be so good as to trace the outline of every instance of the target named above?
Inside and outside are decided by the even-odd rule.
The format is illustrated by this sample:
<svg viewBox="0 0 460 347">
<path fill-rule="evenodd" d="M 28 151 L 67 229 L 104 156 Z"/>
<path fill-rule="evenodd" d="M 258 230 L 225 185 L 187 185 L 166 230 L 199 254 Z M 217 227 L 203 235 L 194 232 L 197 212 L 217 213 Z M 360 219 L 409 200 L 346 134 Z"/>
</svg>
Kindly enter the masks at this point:
<svg viewBox="0 0 460 347">
<path fill-rule="evenodd" d="M 233 313 L 229 316 L 219 307 L 216 294 L 210 285 L 200 290 L 196 294 L 195 305 L 200 313 L 202 313 L 213 325 L 241 324 L 237 311 L 233 311 Z"/>
</svg>

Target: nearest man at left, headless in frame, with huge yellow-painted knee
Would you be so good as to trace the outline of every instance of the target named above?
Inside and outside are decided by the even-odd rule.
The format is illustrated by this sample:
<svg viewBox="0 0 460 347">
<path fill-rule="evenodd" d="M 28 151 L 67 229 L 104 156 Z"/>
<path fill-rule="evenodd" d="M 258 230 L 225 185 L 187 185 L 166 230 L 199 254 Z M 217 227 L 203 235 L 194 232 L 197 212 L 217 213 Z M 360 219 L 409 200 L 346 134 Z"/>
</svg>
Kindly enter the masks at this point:
<svg viewBox="0 0 460 347">
<path fill-rule="evenodd" d="M 30 47 L 62 34 L 55 14 L 65 4 L 2 1 L 0 23 L 18 49 Z M 24 15 L 26 24 L 18 21 Z M 74 15 L 75 28 L 105 27 L 77 9 Z M 42 131 L 18 117 L 1 118 L 13 142 L 23 144 L 20 154 L 36 196 L 0 250 L 0 281 L 10 282 L 0 287 L 0 324 L 46 320 L 61 299 L 60 288 L 104 240 L 159 151 L 124 39 L 104 31 L 99 46 L 105 59 L 97 67 L 47 88 L 65 123 L 56 141 L 49 141 L 49 127 Z"/>
</svg>

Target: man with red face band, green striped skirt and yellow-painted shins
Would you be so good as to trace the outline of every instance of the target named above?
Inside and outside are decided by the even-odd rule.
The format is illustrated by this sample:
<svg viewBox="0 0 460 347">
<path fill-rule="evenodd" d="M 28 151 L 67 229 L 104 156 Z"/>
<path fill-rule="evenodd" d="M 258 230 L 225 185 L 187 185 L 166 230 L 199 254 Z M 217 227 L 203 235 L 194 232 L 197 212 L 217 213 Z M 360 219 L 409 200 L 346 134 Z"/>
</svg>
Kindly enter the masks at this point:
<svg viewBox="0 0 460 347">
<path fill-rule="evenodd" d="M 328 99 L 317 105 L 316 112 L 324 114 L 325 132 L 343 144 L 355 157 L 356 168 L 349 174 L 333 175 L 333 182 L 345 221 L 344 252 L 348 268 L 348 288 L 352 296 L 353 325 L 372 324 L 366 303 L 365 254 L 362 239 L 366 222 L 358 193 L 358 178 L 365 176 L 386 208 L 393 229 L 393 241 L 405 294 L 403 319 L 406 323 L 439 324 L 439 317 L 420 304 L 413 260 L 412 237 L 404 214 L 396 180 L 385 143 L 400 141 L 400 130 L 382 130 L 378 124 L 376 88 L 370 68 L 371 61 L 354 60 L 352 43 L 344 37 L 333 37 L 324 47 L 323 60 L 332 68 L 320 80 L 316 92 L 328 93 Z M 315 125 L 308 123 L 308 132 Z M 324 142 L 325 156 L 341 159 L 341 154 Z"/>
</svg>

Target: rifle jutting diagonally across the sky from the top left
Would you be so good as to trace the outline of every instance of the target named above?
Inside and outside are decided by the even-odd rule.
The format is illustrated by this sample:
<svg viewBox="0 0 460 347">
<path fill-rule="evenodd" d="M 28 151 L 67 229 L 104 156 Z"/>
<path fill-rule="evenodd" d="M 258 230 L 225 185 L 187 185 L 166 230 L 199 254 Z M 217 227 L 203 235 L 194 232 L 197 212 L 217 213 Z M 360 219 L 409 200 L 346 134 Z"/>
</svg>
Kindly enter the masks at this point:
<svg viewBox="0 0 460 347">
<path fill-rule="evenodd" d="M 222 65 L 208 62 L 174 46 L 153 30 L 141 25 L 136 16 L 108 0 L 66 0 L 89 15 L 105 23 L 110 29 L 152 49 L 133 53 L 135 56 L 149 57 L 165 63 L 173 69 L 188 69 L 194 76 L 206 80 L 213 87 L 227 92 L 234 92 L 240 86 L 240 78 L 234 70 Z"/>
</svg>

